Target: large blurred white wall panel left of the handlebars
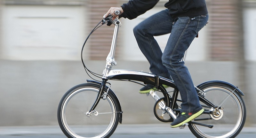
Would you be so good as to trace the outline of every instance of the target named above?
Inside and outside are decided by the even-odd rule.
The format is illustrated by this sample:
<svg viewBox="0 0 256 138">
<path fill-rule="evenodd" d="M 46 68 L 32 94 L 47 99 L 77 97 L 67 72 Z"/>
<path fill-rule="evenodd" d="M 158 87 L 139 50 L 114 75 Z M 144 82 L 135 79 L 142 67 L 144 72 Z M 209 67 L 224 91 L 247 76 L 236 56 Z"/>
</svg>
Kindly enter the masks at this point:
<svg viewBox="0 0 256 138">
<path fill-rule="evenodd" d="M 79 4 L 2 5 L 0 58 L 79 60 L 86 16 Z"/>
</svg>

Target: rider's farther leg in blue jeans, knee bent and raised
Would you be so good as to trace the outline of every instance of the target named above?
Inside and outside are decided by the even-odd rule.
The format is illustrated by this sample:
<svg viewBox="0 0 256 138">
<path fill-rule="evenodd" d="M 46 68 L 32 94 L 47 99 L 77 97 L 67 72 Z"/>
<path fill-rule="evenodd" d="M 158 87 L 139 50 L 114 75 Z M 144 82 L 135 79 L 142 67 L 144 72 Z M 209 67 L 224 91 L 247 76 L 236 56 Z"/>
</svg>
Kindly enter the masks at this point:
<svg viewBox="0 0 256 138">
<path fill-rule="evenodd" d="M 133 29 L 138 46 L 150 64 L 150 72 L 168 79 L 171 77 L 162 64 L 163 53 L 154 36 L 171 33 L 173 22 L 168 10 L 163 10 L 145 19 Z"/>
</svg>

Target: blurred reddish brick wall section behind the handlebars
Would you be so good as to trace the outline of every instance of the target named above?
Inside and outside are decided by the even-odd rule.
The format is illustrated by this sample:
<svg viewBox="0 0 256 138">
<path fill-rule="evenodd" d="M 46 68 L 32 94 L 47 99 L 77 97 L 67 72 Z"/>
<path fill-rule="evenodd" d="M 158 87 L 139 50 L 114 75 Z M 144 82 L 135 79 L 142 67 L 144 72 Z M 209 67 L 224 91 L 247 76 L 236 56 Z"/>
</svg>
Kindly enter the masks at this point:
<svg viewBox="0 0 256 138">
<path fill-rule="evenodd" d="M 110 7 L 120 6 L 118 0 L 90 0 L 90 28 L 91 31 L 102 19 L 103 15 L 109 10 Z M 110 50 L 114 25 L 110 27 L 104 25 L 93 33 L 90 37 L 90 59 L 92 60 L 105 60 Z M 116 50 L 118 53 L 118 50 Z"/>
</svg>

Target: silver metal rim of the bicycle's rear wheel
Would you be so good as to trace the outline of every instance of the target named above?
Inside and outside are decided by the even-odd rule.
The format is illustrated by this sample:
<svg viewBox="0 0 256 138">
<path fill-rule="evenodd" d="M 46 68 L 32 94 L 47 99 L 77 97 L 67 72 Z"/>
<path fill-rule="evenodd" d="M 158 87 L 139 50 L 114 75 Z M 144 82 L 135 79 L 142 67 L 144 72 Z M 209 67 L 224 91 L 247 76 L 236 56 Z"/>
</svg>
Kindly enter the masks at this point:
<svg viewBox="0 0 256 138">
<path fill-rule="evenodd" d="M 209 87 L 209 88 L 205 88 L 204 89 L 204 92 L 206 93 L 206 95 L 209 94 L 209 92 L 225 92 L 226 95 L 228 96 L 230 94 L 230 92 L 232 92 L 233 90 L 230 90 L 230 89 L 227 89 L 227 88 L 224 88 L 224 87 Z M 216 95 L 216 94 L 215 94 Z M 218 98 L 222 98 L 222 97 L 218 97 Z M 207 98 L 208 99 L 208 98 Z M 214 101 L 214 100 L 210 100 L 211 102 Z M 228 119 L 227 115 L 230 115 L 230 109 L 225 109 L 225 105 L 226 103 L 223 103 L 224 105 L 224 109 L 221 110 L 220 112 L 220 116 L 214 116 L 214 115 L 210 115 L 211 118 L 214 118 L 212 119 L 213 121 L 216 121 L 216 122 L 220 122 L 220 121 L 224 121 L 227 122 L 227 123 L 233 123 L 231 124 L 233 127 L 231 129 L 229 129 L 227 132 L 224 132 L 223 130 L 217 130 L 217 131 L 214 131 L 214 130 L 211 130 L 211 131 L 214 131 L 216 134 L 209 134 L 211 133 L 210 130 L 209 132 L 206 132 L 206 130 L 208 128 L 203 128 L 201 126 L 198 126 L 198 125 L 195 125 L 195 124 L 191 124 L 192 127 L 196 130 L 196 133 L 198 133 L 199 135 L 203 136 L 203 137 L 207 137 L 207 138 L 226 138 L 226 137 L 229 137 L 231 135 L 233 135 L 234 133 L 236 133 L 236 131 L 239 129 L 239 127 L 241 126 L 241 123 L 242 123 L 242 120 L 243 120 L 243 106 L 242 106 L 242 102 L 240 101 L 240 99 L 238 98 L 238 96 L 236 95 L 236 93 L 233 93 L 231 94 L 229 97 L 228 97 L 228 100 L 227 101 L 224 101 L 224 102 L 232 102 L 233 106 L 236 107 L 236 111 L 233 111 L 233 113 L 236 113 L 237 114 L 237 117 L 234 118 L 233 120 L 232 119 Z M 221 103 L 214 103 L 215 105 L 219 105 Z M 229 103 L 228 103 L 229 104 Z M 228 105 L 227 104 L 227 105 Z M 233 108 L 235 109 L 235 108 Z M 232 114 L 231 114 L 232 115 Z M 218 117 L 220 117 L 220 119 L 217 119 Z M 225 120 L 227 119 L 227 120 Z M 236 122 L 234 121 L 236 120 Z M 209 121 L 210 122 L 210 121 Z M 211 124 L 210 124 L 211 125 Z M 215 128 L 217 127 L 218 128 L 218 125 L 221 125 L 221 122 L 220 124 L 215 124 Z M 227 126 L 228 127 L 228 126 Z M 213 127 L 214 128 L 214 127 Z M 214 128 L 214 129 L 215 129 Z M 209 128 L 209 129 L 212 129 L 212 128 Z M 204 132 L 203 132 L 204 131 Z M 221 135 L 217 135 L 217 132 L 223 132 Z"/>
</svg>

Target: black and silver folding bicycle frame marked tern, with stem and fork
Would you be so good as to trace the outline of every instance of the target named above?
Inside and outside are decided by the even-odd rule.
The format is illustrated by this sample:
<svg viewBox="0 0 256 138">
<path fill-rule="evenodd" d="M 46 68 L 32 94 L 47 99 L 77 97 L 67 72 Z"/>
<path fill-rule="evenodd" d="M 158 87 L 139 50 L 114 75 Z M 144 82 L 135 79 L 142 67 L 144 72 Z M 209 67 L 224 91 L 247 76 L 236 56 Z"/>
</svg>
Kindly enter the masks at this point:
<svg viewBox="0 0 256 138">
<path fill-rule="evenodd" d="M 112 24 L 115 25 L 115 29 L 114 29 L 114 33 L 113 33 L 113 39 L 112 39 L 112 43 L 111 43 L 111 48 L 110 48 L 110 52 L 108 54 L 108 57 L 106 59 L 106 65 L 105 65 L 105 69 L 103 70 L 102 73 L 102 82 L 101 82 L 101 86 L 100 86 L 100 90 L 98 93 L 98 96 L 95 100 L 95 103 L 93 104 L 91 110 L 88 112 L 92 113 L 95 109 L 95 107 L 97 106 L 97 104 L 100 101 L 101 96 L 103 95 L 103 89 L 106 86 L 106 82 L 108 80 L 132 80 L 132 81 L 141 81 L 144 82 L 146 84 L 151 84 L 153 86 L 155 86 L 156 88 L 161 88 L 162 85 L 167 85 L 170 86 L 172 88 L 174 88 L 174 92 L 172 95 L 172 102 L 168 102 L 170 101 L 170 97 L 167 96 L 165 97 L 167 100 L 164 103 L 160 103 L 160 107 L 167 111 L 168 114 L 173 118 L 176 119 L 177 116 L 174 113 L 174 111 L 172 111 L 172 109 L 174 109 L 176 101 L 177 101 L 177 96 L 178 96 L 178 89 L 175 85 L 175 83 L 172 80 L 166 79 L 164 77 L 158 76 L 156 74 L 151 74 L 151 73 L 145 73 L 145 72 L 140 72 L 140 71 L 133 71 L 133 70 L 123 70 L 123 69 L 112 69 L 113 65 L 116 65 L 116 61 L 115 61 L 115 49 L 116 49 L 116 41 L 117 41 L 117 34 L 118 34 L 118 29 L 121 26 L 121 23 L 119 21 L 119 19 L 115 19 L 115 20 L 109 20 L 111 21 Z M 185 52 L 183 58 L 182 58 L 182 62 L 185 61 L 187 55 L 187 51 Z M 226 83 L 226 82 L 222 82 L 222 83 Z M 203 91 L 201 91 L 200 89 L 198 89 L 196 86 L 195 88 L 199 91 L 199 99 L 204 102 L 206 105 L 214 107 L 214 108 L 218 108 L 217 106 L 215 106 L 214 104 L 212 104 L 210 101 L 208 101 L 207 99 L 204 98 L 204 96 L 206 95 Z M 240 94 L 242 93 L 238 88 L 234 87 L 235 90 L 237 90 Z M 109 87 L 108 87 L 109 89 Z M 234 91 L 235 91 L 234 90 Z M 159 99 L 159 96 L 157 96 L 156 92 L 153 90 L 149 93 L 156 101 Z M 106 95 L 106 94 L 105 94 Z M 243 93 L 241 94 L 243 95 Z M 180 109 L 177 109 L 177 111 Z M 176 111 L 176 110 L 175 110 Z M 122 111 L 121 111 L 122 112 Z M 204 111 L 204 113 L 212 113 L 212 111 Z M 191 122 L 191 123 L 195 123 L 195 122 Z M 197 123 L 199 124 L 199 123 Z M 199 125 L 204 125 L 204 124 L 199 124 Z M 207 127 L 212 127 L 210 125 L 206 125 Z"/>
</svg>

